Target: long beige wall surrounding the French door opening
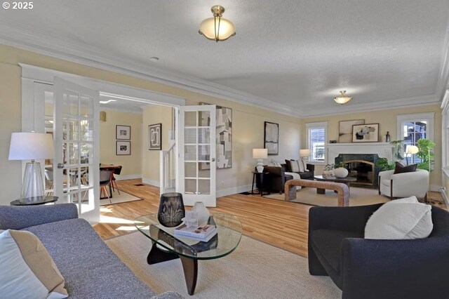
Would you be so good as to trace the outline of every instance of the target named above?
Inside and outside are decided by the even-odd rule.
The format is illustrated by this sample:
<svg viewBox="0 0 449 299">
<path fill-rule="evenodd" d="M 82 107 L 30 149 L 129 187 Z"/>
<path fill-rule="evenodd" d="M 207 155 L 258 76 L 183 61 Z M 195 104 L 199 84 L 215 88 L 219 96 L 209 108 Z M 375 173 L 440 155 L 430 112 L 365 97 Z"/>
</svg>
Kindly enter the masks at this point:
<svg viewBox="0 0 449 299">
<path fill-rule="evenodd" d="M 252 181 L 250 171 L 253 171 L 255 166 L 255 161 L 251 157 L 252 149 L 254 147 L 263 147 L 264 121 L 272 121 L 279 124 L 279 156 L 270 156 L 269 159 L 283 161 L 283 159 L 299 157 L 300 119 L 209 95 L 186 91 L 181 88 L 156 84 L 145 79 L 107 72 L 95 67 L 87 67 L 19 48 L 0 45 L 0 84 L 2 87 L 0 88 L 2 104 L 0 121 L 1 124 L 4 124 L 0 128 L 1 140 L 3 141 L 0 145 L 0 187 L 2 190 L 0 204 L 8 204 L 9 201 L 18 197 L 22 180 L 20 161 L 8 161 L 8 146 L 11 140 L 11 133 L 21 129 L 21 69 L 18 63 L 36 65 L 60 72 L 78 74 L 149 91 L 176 95 L 185 98 L 186 105 L 199 105 L 199 102 L 208 102 L 232 108 L 233 164 L 232 168 L 217 170 L 217 194 L 243 192 L 250 187 Z M 134 145 L 132 145 L 132 149 L 134 148 Z"/>
</svg>

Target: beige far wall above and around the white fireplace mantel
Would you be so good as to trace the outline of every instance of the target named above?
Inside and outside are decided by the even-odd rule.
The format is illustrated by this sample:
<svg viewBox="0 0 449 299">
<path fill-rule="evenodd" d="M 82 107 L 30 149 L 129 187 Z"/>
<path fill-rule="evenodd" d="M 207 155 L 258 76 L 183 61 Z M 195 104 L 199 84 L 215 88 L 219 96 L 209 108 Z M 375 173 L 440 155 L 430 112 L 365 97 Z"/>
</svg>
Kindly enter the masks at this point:
<svg viewBox="0 0 449 299">
<path fill-rule="evenodd" d="M 408 107 L 398 109 L 378 110 L 371 112 L 357 112 L 352 114 L 340 114 L 327 117 L 311 117 L 302 119 L 302 144 L 306 144 L 307 133 L 305 131 L 305 124 L 316 121 L 328 121 L 328 140 L 338 140 L 339 121 L 347 121 L 351 119 L 365 119 L 366 124 L 379 124 L 379 138 L 383 141 L 383 137 L 389 131 L 391 140 L 397 140 L 397 121 L 396 117 L 399 114 L 415 114 L 435 112 L 435 131 L 434 142 L 436 147 L 435 153 L 435 170 L 431 172 L 431 185 L 441 186 L 441 109 L 440 105 L 426 105 L 419 107 Z M 317 166 L 317 173 L 323 171 L 322 166 Z"/>
</svg>

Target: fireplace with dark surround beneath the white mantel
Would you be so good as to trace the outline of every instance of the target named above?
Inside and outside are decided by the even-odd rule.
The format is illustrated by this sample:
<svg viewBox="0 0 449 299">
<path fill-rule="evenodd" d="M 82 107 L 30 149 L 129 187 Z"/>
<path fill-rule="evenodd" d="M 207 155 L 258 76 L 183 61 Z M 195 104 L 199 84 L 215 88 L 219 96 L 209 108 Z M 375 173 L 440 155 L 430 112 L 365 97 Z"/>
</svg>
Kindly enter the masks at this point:
<svg viewBox="0 0 449 299">
<path fill-rule="evenodd" d="M 351 186 L 376 188 L 380 171 L 380 168 L 375 166 L 377 159 L 377 154 L 339 154 L 335 163 L 343 162 L 349 171 L 348 176 L 357 179 L 356 182 L 351 182 Z"/>
</svg>

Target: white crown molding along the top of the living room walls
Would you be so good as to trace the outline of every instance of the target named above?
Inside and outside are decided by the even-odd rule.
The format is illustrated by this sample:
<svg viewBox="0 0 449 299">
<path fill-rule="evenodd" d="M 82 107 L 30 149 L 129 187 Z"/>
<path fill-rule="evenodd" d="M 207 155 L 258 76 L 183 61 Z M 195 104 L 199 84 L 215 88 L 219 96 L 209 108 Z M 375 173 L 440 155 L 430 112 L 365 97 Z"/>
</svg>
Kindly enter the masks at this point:
<svg viewBox="0 0 449 299">
<path fill-rule="evenodd" d="M 445 46 L 449 45 L 449 26 L 446 32 Z M 62 42 L 61 42 L 62 41 Z M 145 79 L 158 84 L 182 88 L 187 91 L 210 95 L 215 98 L 238 102 L 251 107 L 261 107 L 270 111 L 279 112 L 291 117 L 319 117 L 333 114 L 347 114 L 367 110 L 389 109 L 403 106 L 431 105 L 443 100 L 443 93 L 447 89 L 449 78 L 449 51 L 445 49 L 442 58 L 441 73 L 438 77 L 436 93 L 413 98 L 385 100 L 375 104 L 350 104 L 340 107 L 321 108 L 316 105 L 304 105 L 301 109 L 292 109 L 274 100 L 260 98 L 234 88 L 215 84 L 203 79 L 188 77 L 185 74 L 175 74 L 157 67 L 149 67 L 133 60 L 123 59 L 116 55 L 109 55 L 94 46 L 80 46 L 60 36 L 52 36 L 48 32 L 32 32 L 29 29 L 10 25 L 0 21 L 0 43 L 15 46 L 27 51 L 48 55 L 62 60 L 76 62 L 89 67 L 96 67 L 110 72 Z M 51 45 L 51 46 L 50 46 Z M 447 47 L 446 47 L 447 48 Z"/>
</svg>

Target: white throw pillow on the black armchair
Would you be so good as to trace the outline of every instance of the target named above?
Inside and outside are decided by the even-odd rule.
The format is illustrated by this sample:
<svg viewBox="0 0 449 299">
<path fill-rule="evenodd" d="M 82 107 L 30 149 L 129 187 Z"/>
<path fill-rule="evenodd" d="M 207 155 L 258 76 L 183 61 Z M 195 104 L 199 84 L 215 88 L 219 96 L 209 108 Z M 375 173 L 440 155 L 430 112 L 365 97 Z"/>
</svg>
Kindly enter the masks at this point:
<svg viewBox="0 0 449 299">
<path fill-rule="evenodd" d="M 407 197 L 377 209 L 366 222 L 365 239 L 422 239 L 433 228 L 431 206 Z"/>
</svg>

